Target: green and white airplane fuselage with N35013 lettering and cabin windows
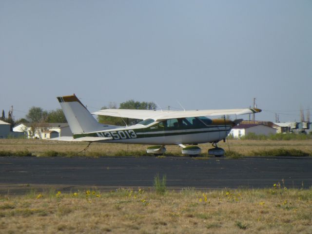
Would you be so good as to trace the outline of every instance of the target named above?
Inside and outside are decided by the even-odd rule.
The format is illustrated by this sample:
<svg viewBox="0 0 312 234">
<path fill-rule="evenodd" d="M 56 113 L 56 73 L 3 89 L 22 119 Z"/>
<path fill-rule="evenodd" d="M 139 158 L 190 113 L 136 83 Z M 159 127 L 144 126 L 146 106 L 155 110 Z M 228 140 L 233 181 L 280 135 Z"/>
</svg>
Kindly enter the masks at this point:
<svg viewBox="0 0 312 234">
<path fill-rule="evenodd" d="M 151 144 L 151 145 L 178 145 L 218 142 L 224 139 L 231 131 L 233 122 L 223 119 L 209 119 L 200 121 L 194 117 L 195 123 L 187 118 L 168 119 L 160 122 L 137 124 L 127 127 L 118 127 L 87 134 L 74 134 L 79 137 L 110 137 L 103 142 Z M 208 119 L 208 118 L 207 118 Z"/>
</svg>

